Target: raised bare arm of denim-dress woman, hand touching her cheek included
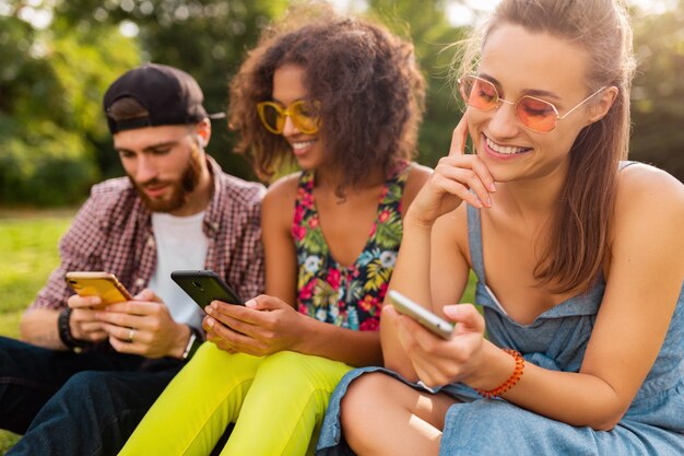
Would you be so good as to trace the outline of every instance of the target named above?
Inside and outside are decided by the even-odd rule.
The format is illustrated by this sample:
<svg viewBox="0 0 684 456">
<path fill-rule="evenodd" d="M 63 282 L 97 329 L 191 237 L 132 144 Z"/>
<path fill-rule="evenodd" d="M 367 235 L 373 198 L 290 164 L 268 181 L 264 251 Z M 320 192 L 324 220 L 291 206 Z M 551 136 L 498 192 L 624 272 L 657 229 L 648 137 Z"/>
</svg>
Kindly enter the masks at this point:
<svg viewBox="0 0 684 456">
<path fill-rule="evenodd" d="M 469 267 L 457 243 L 459 232 L 463 238 L 467 233 L 462 202 L 474 206 L 476 197 L 469 188 L 476 188 L 480 199 L 485 200 L 488 197 L 485 185 L 493 183 L 476 156 L 463 155 L 467 121 L 463 116 L 453 130 L 449 155 L 439 161 L 404 217 L 403 238 L 390 282 L 390 289 L 431 311 L 435 309 L 434 303 L 439 306 L 457 303 L 463 294 Z M 439 225 L 446 229 L 436 235 Z M 431 283 L 440 285 L 431 287 Z M 445 283 L 449 287 L 444 287 Z M 437 313 L 440 313 L 439 307 Z M 385 364 L 409 379 L 416 379 L 411 360 L 399 341 L 396 323 L 394 313 L 382 313 L 380 335 Z"/>
</svg>

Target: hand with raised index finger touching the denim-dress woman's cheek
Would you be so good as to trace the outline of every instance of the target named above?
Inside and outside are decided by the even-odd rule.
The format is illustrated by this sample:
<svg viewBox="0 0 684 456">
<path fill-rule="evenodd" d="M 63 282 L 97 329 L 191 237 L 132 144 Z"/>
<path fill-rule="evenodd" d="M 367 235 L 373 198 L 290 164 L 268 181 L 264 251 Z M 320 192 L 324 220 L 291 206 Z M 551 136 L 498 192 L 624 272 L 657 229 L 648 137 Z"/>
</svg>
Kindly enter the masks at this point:
<svg viewBox="0 0 684 456">
<path fill-rule="evenodd" d="M 439 160 L 435 172 L 413 200 L 408 217 L 429 226 L 462 201 L 475 208 L 492 206 L 490 194 L 496 191 L 494 179 L 477 155 L 465 155 L 467 138 L 468 113 L 453 129 L 449 154 Z"/>
</svg>

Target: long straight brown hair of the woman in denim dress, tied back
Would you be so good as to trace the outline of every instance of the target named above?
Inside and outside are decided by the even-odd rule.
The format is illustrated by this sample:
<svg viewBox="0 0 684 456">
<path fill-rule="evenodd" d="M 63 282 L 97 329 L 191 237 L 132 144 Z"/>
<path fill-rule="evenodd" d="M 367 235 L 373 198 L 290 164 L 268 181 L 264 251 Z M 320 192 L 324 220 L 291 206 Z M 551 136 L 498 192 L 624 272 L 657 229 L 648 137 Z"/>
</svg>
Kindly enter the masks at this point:
<svg viewBox="0 0 684 456">
<path fill-rule="evenodd" d="M 551 219 L 549 242 L 534 269 L 554 292 L 586 291 L 600 277 L 610 249 L 617 167 L 627 157 L 629 90 L 634 73 L 632 28 L 618 0 L 504 0 L 469 43 L 459 72 L 471 72 L 487 37 L 504 24 L 549 33 L 589 56 L 587 89 L 616 86 L 602 119 L 585 127 L 570 149 L 569 168 Z"/>
</svg>

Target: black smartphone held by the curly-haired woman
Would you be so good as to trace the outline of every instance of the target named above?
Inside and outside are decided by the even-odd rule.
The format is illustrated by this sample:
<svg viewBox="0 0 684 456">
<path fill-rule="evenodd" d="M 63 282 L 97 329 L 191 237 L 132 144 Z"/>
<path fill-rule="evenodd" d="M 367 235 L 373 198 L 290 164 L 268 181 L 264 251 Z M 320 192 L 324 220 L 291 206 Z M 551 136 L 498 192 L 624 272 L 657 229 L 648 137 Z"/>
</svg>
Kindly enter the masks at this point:
<svg viewBox="0 0 684 456">
<path fill-rule="evenodd" d="M 245 305 L 245 301 L 235 290 L 224 282 L 214 271 L 179 270 L 172 272 L 172 280 L 192 297 L 204 311 L 212 301 Z"/>
</svg>

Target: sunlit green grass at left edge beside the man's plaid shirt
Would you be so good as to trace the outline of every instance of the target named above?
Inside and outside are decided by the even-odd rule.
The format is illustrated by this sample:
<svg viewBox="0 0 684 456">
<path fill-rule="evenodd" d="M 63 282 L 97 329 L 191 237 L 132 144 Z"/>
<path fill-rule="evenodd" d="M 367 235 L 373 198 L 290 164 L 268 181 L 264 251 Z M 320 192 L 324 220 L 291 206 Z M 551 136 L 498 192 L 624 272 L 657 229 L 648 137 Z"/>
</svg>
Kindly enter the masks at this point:
<svg viewBox="0 0 684 456">
<path fill-rule="evenodd" d="M 21 315 L 59 264 L 57 244 L 73 215 L 73 210 L 0 210 L 0 335 L 19 337 Z M 0 430 L 0 454 L 17 439 Z"/>
</svg>

